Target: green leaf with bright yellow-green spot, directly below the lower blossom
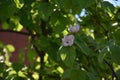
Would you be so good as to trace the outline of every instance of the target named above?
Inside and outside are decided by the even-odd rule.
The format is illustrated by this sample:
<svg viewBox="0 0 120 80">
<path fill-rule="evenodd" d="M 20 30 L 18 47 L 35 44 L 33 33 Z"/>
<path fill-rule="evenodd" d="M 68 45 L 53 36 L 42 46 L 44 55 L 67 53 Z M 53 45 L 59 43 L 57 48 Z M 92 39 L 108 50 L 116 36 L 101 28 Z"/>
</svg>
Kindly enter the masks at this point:
<svg viewBox="0 0 120 80">
<path fill-rule="evenodd" d="M 73 66 L 73 63 L 76 57 L 76 52 L 73 47 L 62 47 L 62 49 L 58 54 L 60 54 L 59 56 L 61 60 L 64 62 L 64 64 L 67 67 Z"/>
</svg>

